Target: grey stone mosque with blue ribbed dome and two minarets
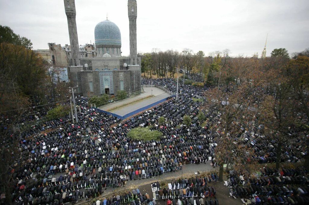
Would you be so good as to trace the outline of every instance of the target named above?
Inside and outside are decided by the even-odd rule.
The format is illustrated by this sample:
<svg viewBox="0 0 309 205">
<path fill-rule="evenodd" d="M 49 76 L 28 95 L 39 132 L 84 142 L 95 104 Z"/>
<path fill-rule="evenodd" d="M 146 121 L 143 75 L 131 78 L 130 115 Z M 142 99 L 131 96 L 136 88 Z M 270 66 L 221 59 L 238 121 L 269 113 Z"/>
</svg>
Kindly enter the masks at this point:
<svg viewBox="0 0 309 205">
<path fill-rule="evenodd" d="M 121 33 L 106 19 L 95 26 L 96 57 L 79 52 L 75 0 L 64 0 L 70 36 L 68 76 L 76 92 L 86 97 L 116 94 L 118 90 L 138 93 L 141 90 L 141 58 L 137 57 L 137 2 L 128 0 L 130 56 L 121 57 Z"/>
</svg>

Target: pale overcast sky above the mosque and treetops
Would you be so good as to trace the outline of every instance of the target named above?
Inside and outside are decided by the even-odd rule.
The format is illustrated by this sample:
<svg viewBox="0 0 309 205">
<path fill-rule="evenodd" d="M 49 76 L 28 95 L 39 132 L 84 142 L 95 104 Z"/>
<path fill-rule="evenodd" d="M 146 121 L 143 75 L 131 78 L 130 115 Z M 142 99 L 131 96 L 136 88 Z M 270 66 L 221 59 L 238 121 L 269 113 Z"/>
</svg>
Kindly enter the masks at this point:
<svg viewBox="0 0 309 205">
<path fill-rule="evenodd" d="M 95 25 L 108 20 L 121 31 L 122 55 L 129 55 L 126 0 L 75 0 L 79 44 L 94 42 Z M 138 52 L 184 48 L 205 54 L 231 50 L 231 56 L 259 56 L 309 47 L 308 0 L 137 0 Z M 49 42 L 70 44 L 63 0 L 0 0 L 0 25 L 29 38 L 33 49 Z"/>
</svg>

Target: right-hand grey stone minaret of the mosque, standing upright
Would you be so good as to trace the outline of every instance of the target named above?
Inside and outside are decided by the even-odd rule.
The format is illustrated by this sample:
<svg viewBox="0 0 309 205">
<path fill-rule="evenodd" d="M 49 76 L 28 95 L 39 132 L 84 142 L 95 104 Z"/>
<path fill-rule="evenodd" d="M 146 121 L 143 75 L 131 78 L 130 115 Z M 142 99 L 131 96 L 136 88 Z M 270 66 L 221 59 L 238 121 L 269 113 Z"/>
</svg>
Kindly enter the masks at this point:
<svg viewBox="0 0 309 205">
<path fill-rule="evenodd" d="M 128 16 L 130 31 L 130 65 L 137 65 L 136 18 L 137 2 L 128 0 Z"/>
</svg>

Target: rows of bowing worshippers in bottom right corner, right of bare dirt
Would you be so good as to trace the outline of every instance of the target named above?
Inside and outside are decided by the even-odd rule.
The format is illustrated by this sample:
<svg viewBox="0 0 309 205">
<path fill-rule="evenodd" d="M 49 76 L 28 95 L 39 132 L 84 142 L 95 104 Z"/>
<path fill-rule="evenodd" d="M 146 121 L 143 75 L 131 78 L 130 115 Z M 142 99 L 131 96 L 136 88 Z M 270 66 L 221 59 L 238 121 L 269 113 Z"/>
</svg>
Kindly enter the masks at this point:
<svg viewBox="0 0 309 205">
<path fill-rule="evenodd" d="M 230 171 L 228 186 L 236 197 L 248 198 L 252 204 L 308 204 L 309 170 L 304 167 L 277 169 L 265 167 L 257 179 Z"/>
</svg>

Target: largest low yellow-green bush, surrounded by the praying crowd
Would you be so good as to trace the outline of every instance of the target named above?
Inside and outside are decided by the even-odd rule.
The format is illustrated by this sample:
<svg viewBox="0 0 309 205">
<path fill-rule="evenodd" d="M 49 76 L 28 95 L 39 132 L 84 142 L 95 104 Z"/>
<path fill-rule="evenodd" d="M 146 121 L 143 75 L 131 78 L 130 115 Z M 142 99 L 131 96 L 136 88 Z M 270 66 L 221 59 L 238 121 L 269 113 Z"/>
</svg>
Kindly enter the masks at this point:
<svg viewBox="0 0 309 205">
<path fill-rule="evenodd" d="M 159 131 L 151 131 L 146 127 L 136 127 L 130 130 L 127 134 L 127 137 L 131 139 L 137 139 L 137 140 L 157 140 L 163 135 L 162 132 Z"/>
</svg>

